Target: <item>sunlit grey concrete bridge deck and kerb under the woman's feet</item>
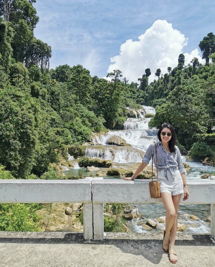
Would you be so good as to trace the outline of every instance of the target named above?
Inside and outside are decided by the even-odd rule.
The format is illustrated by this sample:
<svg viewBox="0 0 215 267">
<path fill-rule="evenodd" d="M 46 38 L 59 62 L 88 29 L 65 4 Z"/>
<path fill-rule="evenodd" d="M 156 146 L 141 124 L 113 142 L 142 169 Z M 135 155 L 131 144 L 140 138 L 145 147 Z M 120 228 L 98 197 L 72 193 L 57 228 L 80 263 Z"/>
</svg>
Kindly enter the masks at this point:
<svg viewBox="0 0 215 267">
<path fill-rule="evenodd" d="M 162 233 L 104 233 L 102 241 L 76 232 L 0 232 L 1 267 L 173 266 Z M 215 266 L 215 241 L 207 234 L 177 233 L 176 266 Z"/>
</svg>

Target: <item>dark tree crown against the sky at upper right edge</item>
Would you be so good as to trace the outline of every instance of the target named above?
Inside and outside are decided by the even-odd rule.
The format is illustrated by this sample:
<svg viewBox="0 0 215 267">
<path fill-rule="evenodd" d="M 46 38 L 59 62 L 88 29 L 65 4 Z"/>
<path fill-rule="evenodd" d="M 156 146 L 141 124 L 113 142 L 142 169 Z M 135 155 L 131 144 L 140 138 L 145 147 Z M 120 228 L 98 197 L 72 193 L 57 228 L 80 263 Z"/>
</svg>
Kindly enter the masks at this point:
<svg viewBox="0 0 215 267">
<path fill-rule="evenodd" d="M 205 65 L 207 65 L 209 56 L 215 52 L 215 35 L 208 33 L 199 43 L 199 48 L 202 51 L 202 59 L 205 59 Z"/>
</svg>

